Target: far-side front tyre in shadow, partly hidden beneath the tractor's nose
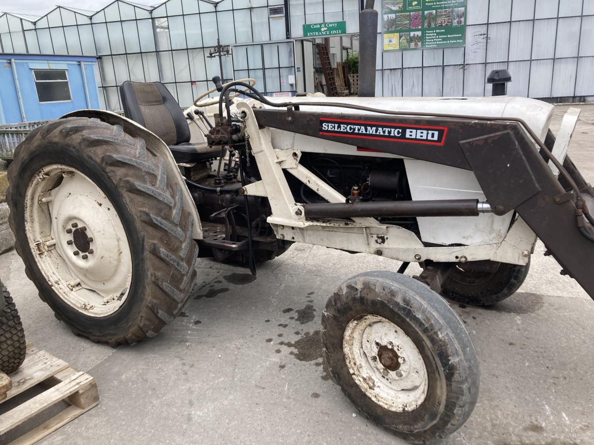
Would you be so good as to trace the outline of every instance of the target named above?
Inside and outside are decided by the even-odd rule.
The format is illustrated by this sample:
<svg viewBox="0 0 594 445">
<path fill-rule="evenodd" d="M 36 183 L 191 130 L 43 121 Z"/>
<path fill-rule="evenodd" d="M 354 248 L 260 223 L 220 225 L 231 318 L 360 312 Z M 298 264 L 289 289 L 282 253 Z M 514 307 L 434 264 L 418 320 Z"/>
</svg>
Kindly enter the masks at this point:
<svg viewBox="0 0 594 445">
<path fill-rule="evenodd" d="M 530 270 L 530 262 L 525 266 L 491 262 L 491 266 L 494 271 L 473 270 L 472 263 L 456 266 L 445 279 L 441 293 L 460 303 L 491 306 L 516 293 Z"/>
</svg>

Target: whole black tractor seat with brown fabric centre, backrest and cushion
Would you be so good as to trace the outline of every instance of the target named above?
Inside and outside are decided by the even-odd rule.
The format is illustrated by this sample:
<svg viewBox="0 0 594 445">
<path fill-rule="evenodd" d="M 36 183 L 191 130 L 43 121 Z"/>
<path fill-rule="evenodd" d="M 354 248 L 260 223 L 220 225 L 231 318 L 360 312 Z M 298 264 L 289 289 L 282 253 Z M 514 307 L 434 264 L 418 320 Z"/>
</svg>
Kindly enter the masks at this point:
<svg viewBox="0 0 594 445">
<path fill-rule="evenodd" d="M 220 149 L 189 142 L 189 126 L 178 103 L 161 82 L 125 81 L 119 85 L 124 115 L 153 132 L 168 145 L 176 163 L 205 162 Z"/>
</svg>

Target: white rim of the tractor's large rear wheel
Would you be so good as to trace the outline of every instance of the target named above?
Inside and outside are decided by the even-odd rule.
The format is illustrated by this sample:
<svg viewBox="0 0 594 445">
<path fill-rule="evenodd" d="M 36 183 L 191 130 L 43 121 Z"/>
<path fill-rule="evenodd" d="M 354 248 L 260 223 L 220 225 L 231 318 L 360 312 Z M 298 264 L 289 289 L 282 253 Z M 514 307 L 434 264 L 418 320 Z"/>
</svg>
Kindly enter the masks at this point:
<svg viewBox="0 0 594 445">
<path fill-rule="evenodd" d="M 55 293 L 88 316 L 117 311 L 128 297 L 132 255 L 105 193 L 77 169 L 51 164 L 34 174 L 25 201 L 27 240 Z"/>
</svg>

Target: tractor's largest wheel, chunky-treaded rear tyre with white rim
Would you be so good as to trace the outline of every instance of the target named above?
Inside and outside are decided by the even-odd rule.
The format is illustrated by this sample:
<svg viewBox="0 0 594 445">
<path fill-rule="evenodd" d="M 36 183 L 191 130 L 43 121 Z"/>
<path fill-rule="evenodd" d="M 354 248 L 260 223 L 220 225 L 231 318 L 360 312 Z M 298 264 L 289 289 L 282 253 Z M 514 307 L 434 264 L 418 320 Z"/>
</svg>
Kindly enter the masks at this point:
<svg viewBox="0 0 594 445">
<path fill-rule="evenodd" d="M 194 220 L 166 161 L 98 119 L 35 129 L 8 170 L 27 276 L 73 332 L 111 345 L 156 335 L 195 276 Z"/>
</svg>

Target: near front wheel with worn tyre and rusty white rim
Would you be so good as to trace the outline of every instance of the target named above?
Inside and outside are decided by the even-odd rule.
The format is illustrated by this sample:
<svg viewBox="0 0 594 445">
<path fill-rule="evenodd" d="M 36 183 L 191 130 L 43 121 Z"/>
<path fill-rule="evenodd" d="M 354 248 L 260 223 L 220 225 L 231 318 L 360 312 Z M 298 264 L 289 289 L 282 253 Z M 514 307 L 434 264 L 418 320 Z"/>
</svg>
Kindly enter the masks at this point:
<svg viewBox="0 0 594 445">
<path fill-rule="evenodd" d="M 469 418 L 479 391 L 475 349 L 456 313 L 421 282 L 355 275 L 328 299 L 322 324 L 332 375 L 365 417 L 414 443 Z"/>
</svg>

